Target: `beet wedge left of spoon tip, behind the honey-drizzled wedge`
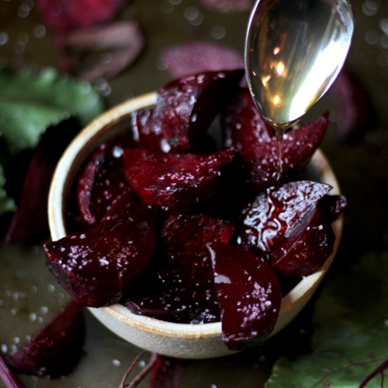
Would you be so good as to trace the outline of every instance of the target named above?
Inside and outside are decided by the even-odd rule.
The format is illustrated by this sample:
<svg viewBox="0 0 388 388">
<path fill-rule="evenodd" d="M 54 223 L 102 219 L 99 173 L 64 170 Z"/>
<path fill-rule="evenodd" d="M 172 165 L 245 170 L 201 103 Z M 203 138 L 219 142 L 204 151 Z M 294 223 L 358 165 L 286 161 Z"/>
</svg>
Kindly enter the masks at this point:
<svg viewBox="0 0 388 388">
<path fill-rule="evenodd" d="M 225 147 L 243 150 L 253 145 L 269 143 L 275 137 L 255 107 L 248 89 L 241 89 L 221 115 Z"/>
</svg>

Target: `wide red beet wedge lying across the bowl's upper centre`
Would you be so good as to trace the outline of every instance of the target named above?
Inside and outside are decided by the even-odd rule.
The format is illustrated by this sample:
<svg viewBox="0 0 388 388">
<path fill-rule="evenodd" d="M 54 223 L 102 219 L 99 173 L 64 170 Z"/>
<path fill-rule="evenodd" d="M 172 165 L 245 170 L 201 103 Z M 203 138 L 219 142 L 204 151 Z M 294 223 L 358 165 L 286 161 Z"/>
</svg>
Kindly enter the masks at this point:
<svg viewBox="0 0 388 388">
<path fill-rule="evenodd" d="M 145 203 L 187 213 L 212 202 L 233 181 L 235 156 L 232 150 L 199 155 L 129 148 L 123 161 L 128 183 Z"/>
</svg>

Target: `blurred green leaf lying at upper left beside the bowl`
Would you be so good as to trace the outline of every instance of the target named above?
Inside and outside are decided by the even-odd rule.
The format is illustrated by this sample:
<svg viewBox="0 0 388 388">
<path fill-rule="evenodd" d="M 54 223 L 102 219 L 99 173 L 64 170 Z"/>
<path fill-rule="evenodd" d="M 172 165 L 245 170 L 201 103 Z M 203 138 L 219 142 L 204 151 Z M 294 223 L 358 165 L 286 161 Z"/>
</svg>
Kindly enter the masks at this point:
<svg viewBox="0 0 388 388">
<path fill-rule="evenodd" d="M 0 136 L 13 151 L 34 147 L 47 127 L 70 116 L 85 125 L 102 112 L 102 100 L 89 83 L 0 63 Z"/>
</svg>

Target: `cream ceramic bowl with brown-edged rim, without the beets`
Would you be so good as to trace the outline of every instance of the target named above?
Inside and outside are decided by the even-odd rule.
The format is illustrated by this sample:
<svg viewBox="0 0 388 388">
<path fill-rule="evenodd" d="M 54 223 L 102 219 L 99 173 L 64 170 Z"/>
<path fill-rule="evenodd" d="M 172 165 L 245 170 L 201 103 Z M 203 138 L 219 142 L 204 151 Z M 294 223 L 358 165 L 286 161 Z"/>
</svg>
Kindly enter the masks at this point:
<svg viewBox="0 0 388 388">
<path fill-rule="evenodd" d="M 132 111 L 152 106 L 156 98 L 153 92 L 123 102 L 92 121 L 68 146 L 56 168 L 49 192 L 49 226 L 53 241 L 66 236 L 66 201 L 79 167 L 102 142 L 128 128 L 128 115 Z M 339 193 L 337 179 L 320 150 L 315 152 L 310 166 L 319 174 L 322 182 L 333 186 L 331 194 Z M 272 336 L 288 325 L 313 296 L 337 252 L 342 224 L 341 217 L 333 224 L 336 235 L 334 250 L 322 268 L 303 278 L 282 298 L 279 319 Z M 202 325 L 164 322 L 135 315 L 120 304 L 89 310 L 119 337 L 147 351 L 178 358 L 213 358 L 234 353 L 222 342 L 221 322 Z"/>
</svg>

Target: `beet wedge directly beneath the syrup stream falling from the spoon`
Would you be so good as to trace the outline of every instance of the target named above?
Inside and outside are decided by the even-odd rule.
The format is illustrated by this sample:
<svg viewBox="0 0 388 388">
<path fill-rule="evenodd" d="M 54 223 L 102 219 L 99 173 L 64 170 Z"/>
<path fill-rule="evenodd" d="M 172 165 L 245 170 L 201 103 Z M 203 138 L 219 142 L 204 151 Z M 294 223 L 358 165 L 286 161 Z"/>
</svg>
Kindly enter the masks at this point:
<svg viewBox="0 0 388 388">
<path fill-rule="evenodd" d="M 328 115 L 313 123 L 293 129 L 283 137 L 281 166 L 283 177 L 301 169 L 313 156 L 327 130 Z M 257 193 L 277 183 L 277 139 L 268 143 L 241 148 L 243 164 L 250 174 L 250 183 Z"/>
</svg>

